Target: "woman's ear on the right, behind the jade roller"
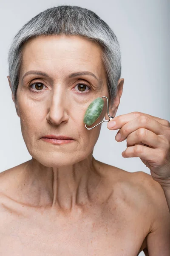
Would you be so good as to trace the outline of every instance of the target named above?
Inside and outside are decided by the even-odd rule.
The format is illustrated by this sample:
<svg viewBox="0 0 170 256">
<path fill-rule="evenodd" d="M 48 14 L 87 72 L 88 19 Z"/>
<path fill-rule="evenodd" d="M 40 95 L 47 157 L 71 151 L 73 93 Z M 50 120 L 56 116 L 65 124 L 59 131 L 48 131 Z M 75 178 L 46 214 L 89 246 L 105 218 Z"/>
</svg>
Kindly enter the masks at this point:
<svg viewBox="0 0 170 256">
<path fill-rule="evenodd" d="M 119 103 L 120 103 L 120 98 L 122 96 L 122 92 L 123 92 L 123 84 L 124 84 L 124 79 L 121 78 L 118 81 L 117 84 L 117 94 L 116 94 L 116 98 L 114 99 L 113 105 L 109 105 L 109 115 L 115 117 L 116 116 L 116 112 L 118 110 L 119 107 Z M 108 120 L 109 116 L 108 116 L 108 111 L 105 114 L 105 119 Z"/>
</svg>

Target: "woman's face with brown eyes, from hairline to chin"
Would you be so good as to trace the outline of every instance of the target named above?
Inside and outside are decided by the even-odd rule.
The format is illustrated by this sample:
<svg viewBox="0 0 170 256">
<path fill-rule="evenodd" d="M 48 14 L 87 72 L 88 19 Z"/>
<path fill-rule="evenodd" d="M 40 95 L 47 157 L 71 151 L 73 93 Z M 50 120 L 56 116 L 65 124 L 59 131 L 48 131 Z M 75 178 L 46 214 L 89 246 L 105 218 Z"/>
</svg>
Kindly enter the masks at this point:
<svg viewBox="0 0 170 256">
<path fill-rule="evenodd" d="M 16 108 L 27 149 L 44 166 L 69 166 L 93 151 L 101 125 L 87 130 L 83 119 L 94 99 L 109 96 L 101 59 L 99 45 L 77 35 L 39 36 L 24 45 Z M 39 74 L 26 75 L 31 70 Z M 107 113 L 104 102 L 92 126 Z M 49 134 L 74 140 L 54 145 L 42 140 Z"/>
</svg>

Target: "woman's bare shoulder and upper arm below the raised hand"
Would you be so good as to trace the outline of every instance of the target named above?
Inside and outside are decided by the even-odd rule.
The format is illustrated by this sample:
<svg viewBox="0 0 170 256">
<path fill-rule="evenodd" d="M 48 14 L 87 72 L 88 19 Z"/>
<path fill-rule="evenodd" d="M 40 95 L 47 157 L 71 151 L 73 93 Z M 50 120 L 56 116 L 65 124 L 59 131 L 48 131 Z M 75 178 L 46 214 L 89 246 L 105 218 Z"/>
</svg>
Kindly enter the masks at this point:
<svg viewBox="0 0 170 256">
<path fill-rule="evenodd" d="M 145 239 L 140 251 L 144 250 L 145 255 L 170 255 L 170 212 L 161 185 L 145 172 L 102 166 L 122 198 L 127 215 L 135 216 L 136 212 L 136 222 L 143 225 Z"/>
</svg>

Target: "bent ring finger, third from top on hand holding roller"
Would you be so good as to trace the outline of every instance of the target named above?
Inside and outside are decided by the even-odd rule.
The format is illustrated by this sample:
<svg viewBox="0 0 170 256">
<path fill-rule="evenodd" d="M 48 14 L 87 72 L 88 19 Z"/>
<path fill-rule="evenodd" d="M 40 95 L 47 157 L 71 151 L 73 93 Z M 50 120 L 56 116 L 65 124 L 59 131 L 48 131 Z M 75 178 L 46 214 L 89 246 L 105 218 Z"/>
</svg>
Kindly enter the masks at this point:
<svg viewBox="0 0 170 256">
<path fill-rule="evenodd" d="M 165 148 L 164 139 L 145 128 L 139 128 L 127 136 L 127 144 L 129 146 L 137 143 L 143 143 L 152 148 Z"/>
</svg>

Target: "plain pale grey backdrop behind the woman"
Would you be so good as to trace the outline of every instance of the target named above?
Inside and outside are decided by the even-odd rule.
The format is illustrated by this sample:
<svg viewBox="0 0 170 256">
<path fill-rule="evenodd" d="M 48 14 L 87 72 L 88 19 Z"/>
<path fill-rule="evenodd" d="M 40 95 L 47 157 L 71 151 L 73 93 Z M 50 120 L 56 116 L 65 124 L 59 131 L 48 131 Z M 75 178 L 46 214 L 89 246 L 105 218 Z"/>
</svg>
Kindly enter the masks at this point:
<svg viewBox="0 0 170 256">
<path fill-rule="evenodd" d="M 0 172 L 31 159 L 20 118 L 8 85 L 7 54 L 12 38 L 32 17 L 57 5 L 91 9 L 116 34 L 122 52 L 124 89 L 116 116 L 140 111 L 170 121 L 170 2 L 167 0 L 0 0 Z M 128 172 L 150 174 L 139 157 L 124 158 L 126 140 L 118 143 L 107 122 L 102 123 L 94 157 Z M 144 256 L 141 252 L 140 256 Z"/>
</svg>

